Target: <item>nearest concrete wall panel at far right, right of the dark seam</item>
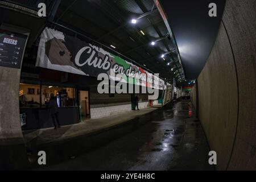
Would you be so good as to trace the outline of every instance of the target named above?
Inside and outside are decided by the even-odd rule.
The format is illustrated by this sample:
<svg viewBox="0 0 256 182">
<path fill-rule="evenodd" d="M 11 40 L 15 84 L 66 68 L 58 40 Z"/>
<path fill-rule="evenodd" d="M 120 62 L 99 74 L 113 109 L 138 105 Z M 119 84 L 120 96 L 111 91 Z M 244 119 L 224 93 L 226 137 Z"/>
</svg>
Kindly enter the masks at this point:
<svg viewBox="0 0 256 182">
<path fill-rule="evenodd" d="M 239 91 L 237 134 L 228 169 L 256 169 L 255 12 L 254 0 L 229 0 L 223 17 L 234 52 Z"/>
</svg>

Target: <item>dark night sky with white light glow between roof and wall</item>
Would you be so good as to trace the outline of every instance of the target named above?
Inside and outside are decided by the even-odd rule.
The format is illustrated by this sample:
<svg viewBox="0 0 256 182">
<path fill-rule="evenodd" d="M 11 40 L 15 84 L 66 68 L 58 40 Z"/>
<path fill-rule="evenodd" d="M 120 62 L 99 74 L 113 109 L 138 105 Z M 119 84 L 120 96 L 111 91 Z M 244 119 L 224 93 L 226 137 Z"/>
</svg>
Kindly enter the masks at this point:
<svg viewBox="0 0 256 182">
<path fill-rule="evenodd" d="M 203 69 L 220 26 L 225 0 L 160 0 L 168 16 L 187 79 Z M 216 3 L 217 17 L 209 17 L 209 3 Z"/>
</svg>

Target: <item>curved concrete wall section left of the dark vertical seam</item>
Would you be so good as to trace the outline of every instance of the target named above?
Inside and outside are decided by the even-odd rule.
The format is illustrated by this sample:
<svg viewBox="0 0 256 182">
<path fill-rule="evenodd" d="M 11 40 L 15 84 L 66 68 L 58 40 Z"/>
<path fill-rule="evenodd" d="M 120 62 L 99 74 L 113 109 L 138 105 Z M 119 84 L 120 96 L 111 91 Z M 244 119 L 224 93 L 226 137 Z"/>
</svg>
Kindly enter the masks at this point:
<svg viewBox="0 0 256 182">
<path fill-rule="evenodd" d="M 238 89 L 232 50 L 222 24 L 198 83 L 199 118 L 210 148 L 218 154 L 218 169 L 225 169 L 236 133 Z"/>
</svg>

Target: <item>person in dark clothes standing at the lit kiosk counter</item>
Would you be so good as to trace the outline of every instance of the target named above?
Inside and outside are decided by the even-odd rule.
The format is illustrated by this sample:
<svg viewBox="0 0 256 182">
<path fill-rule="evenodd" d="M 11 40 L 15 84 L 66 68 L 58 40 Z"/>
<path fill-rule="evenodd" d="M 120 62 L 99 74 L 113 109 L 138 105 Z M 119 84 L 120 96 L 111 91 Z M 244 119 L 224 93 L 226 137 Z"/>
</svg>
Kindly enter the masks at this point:
<svg viewBox="0 0 256 182">
<path fill-rule="evenodd" d="M 51 98 L 49 100 L 49 104 L 48 104 L 49 110 L 50 110 L 50 114 L 52 117 L 52 122 L 54 125 L 54 129 L 56 130 L 57 127 L 60 127 L 60 123 L 59 123 L 59 107 L 57 104 L 57 98 L 54 97 L 53 94 L 51 94 Z"/>
</svg>

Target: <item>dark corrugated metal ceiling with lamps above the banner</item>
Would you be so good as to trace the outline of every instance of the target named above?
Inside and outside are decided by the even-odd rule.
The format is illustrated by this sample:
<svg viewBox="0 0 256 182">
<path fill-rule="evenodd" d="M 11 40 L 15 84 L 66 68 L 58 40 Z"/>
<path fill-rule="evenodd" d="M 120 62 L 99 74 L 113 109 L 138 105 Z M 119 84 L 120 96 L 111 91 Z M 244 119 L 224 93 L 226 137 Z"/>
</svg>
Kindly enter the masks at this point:
<svg viewBox="0 0 256 182">
<path fill-rule="evenodd" d="M 108 47 L 114 44 L 117 47 L 115 51 L 141 65 L 146 64 L 148 69 L 160 73 L 162 77 L 173 77 L 167 63 L 176 57 L 168 54 L 165 61 L 160 57 L 174 48 L 173 42 L 164 39 L 154 47 L 150 45 L 168 32 L 158 11 L 138 19 L 137 24 L 130 23 L 131 18 L 151 11 L 153 0 L 77 0 L 70 6 L 71 3 L 61 1 L 55 19 L 59 19 L 60 24 L 75 28 Z"/>
</svg>

